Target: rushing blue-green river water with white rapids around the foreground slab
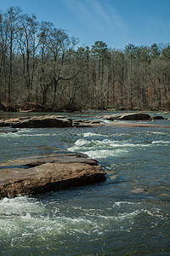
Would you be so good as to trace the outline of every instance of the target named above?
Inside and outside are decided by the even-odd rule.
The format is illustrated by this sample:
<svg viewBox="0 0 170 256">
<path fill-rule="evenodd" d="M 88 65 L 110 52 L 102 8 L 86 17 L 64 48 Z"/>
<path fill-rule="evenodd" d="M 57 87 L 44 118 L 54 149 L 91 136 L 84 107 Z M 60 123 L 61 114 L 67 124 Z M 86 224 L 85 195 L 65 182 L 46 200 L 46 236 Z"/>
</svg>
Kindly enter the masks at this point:
<svg viewBox="0 0 170 256">
<path fill-rule="evenodd" d="M 165 116 L 155 124 L 170 125 Z M 69 150 L 107 172 L 105 183 L 1 200 L 0 255 L 170 255 L 169 149 L 170 128 L 160 127 L 0 134 L 0 163 Z"/>
</svg>

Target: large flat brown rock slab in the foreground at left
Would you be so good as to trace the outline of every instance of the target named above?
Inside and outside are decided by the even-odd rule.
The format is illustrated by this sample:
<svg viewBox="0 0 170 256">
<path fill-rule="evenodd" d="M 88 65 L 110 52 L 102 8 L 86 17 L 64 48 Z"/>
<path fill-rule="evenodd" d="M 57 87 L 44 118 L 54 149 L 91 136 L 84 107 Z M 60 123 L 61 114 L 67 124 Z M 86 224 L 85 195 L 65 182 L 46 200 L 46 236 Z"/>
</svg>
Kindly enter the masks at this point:
<svg viewBox="0 0 170 256">
<path fill-rule="evenodd" d="M 37 195 L 105 181 L 105 171 L 83 154 L 53 154 L 0 166 L 0 198 Z"/>
</svg>

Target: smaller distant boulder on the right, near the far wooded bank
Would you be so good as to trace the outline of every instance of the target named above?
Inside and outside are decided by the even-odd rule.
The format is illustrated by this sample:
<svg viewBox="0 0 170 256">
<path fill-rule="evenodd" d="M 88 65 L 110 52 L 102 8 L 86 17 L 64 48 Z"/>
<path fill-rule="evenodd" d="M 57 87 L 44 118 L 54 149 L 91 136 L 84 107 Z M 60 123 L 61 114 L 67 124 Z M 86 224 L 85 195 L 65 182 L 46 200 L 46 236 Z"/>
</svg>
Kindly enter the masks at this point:
<svg viewBox="0 0 170 256">
<path fill-rule="evenodd" d="M 118 113 L 108 115 L 104 117 L 107 120 L 150 120 L 150 114 L 148 113 Z"/>
</svg>

